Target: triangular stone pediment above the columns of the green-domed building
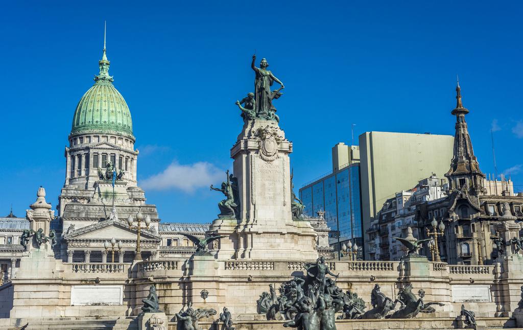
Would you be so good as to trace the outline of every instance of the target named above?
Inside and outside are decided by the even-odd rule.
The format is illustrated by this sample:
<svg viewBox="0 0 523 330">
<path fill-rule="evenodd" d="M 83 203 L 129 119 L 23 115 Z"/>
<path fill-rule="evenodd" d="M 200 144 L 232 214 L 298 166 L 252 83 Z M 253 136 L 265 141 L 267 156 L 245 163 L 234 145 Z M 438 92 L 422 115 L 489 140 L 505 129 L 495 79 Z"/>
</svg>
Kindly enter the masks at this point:
<svg viewBox="0 0 523 330">
<path fill-rule="evenodd" d="M 66 235 L 65 240 L 104 240 L 111 238 L 116 240 L 136 240 L 138 231 L 129 229 L 127 224 L 120 221 L 105 220 L 98 223 L 82 227 Z M 161 237 L 149 231 L 142 230 L 141 237 L 144 240 L 161 240 Z"/>
</svg>

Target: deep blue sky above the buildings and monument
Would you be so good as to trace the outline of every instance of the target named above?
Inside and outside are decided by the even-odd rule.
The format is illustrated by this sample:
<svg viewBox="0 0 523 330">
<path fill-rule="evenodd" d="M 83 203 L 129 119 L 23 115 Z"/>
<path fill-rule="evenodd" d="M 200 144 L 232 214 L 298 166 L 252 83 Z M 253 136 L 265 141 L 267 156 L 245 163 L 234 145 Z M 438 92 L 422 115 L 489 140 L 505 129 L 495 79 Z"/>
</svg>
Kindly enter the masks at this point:
<svg viewBox="0 0 523 330">
<path fill-rule="evenodd" d="M 297 189 L 331 169 L 331 147 L 350 143 L 352 123 L 356 135 L 453 134 L 459 74 L 481 169 L 494 172 L 494 127 L 498 172 L 523 190 L 519 2 L 72 3 L 3 5 L 0 214 L 13 204 L 24 215 L 40 185 L 58 202 L 67 135 L 98 73 L 104 20 L 110 74 L 140 150 L 139 183 L 164 221 L 210 222 L 218 213 L 222 196 L 208 186 L 231 167 L 242 126 L 234 101 L 253 89 L 255 50 L 286 86 L 276 106 L 294 143 Z"/>
</svg>

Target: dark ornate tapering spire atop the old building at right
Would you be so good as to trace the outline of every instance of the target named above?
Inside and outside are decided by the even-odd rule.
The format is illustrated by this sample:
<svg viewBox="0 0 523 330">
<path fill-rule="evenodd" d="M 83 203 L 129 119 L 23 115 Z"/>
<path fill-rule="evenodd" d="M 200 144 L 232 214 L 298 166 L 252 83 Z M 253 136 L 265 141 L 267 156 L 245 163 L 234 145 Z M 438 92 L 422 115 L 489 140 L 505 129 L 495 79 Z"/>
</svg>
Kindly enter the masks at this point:
<svg viewBox="0 0 523 330">
<path fill-rule="evenodd" d="M 479 196 L 484 193 L 483 179 L 485 174 L 480 170 L 480 164 L 474 156 L 472 142 L 470 141 L 465 115 L 469 110 L 463 107 L 461 101 L 461 87 L 456 86 L 456 108 L 452 110 L 452 115 L 456 116 L 456 133 L 454 134 L 454 150 L 450 169 L 445 174 L 449 180 L 449 189 L 466 190 L 470 195 Z"/>
</svg>

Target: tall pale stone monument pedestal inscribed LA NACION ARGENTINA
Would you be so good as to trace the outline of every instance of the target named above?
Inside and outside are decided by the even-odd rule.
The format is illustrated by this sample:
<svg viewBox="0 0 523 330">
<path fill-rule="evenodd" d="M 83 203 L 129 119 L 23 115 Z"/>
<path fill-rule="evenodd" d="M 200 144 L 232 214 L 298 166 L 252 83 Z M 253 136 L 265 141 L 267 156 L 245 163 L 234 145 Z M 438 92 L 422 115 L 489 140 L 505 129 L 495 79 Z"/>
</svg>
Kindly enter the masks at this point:
<svg viewBox="0 0 523 330">
<path fill-rule="evenodd" d="M 218 219 L 209 231 L 227 235 L 217 252 L 221 260 L 315 260 L 316 232 L 293 221 L 289 154 L 292 143 L 275 120 L 244 122 L 231 149 L 239 207 L 236 219 Z"/>
</svg>

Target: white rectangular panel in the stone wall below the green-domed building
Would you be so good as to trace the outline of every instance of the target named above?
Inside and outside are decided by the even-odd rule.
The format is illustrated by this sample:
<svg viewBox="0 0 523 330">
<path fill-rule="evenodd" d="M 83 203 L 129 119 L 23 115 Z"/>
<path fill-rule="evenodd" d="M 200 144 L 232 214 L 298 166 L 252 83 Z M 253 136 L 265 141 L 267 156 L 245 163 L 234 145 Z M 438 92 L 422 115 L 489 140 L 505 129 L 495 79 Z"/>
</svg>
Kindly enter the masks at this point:
<svg viewBox="0 0 523 330">
<path fill-rule="evenodd" d="M 71 306 L 122 305 L 123 286 L 72 286 Z"/>
</svg>

